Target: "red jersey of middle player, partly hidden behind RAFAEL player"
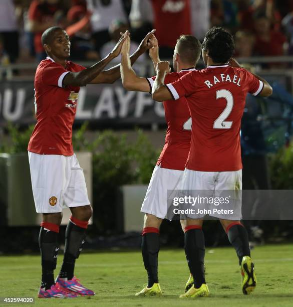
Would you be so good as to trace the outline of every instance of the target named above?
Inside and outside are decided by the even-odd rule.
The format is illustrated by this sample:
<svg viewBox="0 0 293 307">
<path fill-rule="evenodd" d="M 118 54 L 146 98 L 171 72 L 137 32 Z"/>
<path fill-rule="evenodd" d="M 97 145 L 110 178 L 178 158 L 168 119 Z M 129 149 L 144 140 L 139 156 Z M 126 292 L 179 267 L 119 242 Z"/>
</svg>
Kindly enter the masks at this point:
<svg viewBox="0 0 293 307">
<path fill-rule="evenodd" d="M 184 69 L 179 73 L 172 72 L 167 74 L 165 84 L 178 80 L 181 76 L 192 70 L 195 69 Z M 151 89 L 155 78 L 147 78 Z M 163 102 L 163 105 L 167 122 L 167 133 L 157 165 L 164 169 L 183 171 L 191 139 L 191 118 L 186 98 L 182 97 L 177 101 L 167 100 Z"/>
</svg>

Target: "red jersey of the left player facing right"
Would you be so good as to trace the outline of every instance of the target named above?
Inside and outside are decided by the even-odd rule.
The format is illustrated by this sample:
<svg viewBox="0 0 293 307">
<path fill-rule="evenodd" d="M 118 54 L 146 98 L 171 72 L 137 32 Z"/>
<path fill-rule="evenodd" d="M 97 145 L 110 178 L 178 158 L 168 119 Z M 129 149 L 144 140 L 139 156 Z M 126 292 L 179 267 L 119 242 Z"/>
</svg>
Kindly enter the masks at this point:
<svg viewBox="0 0 293 307">
<path fill-rule="evenodd" d="M 35 76 L 35 109 L 37 124 L 28 150 L 36 154 L 72 156 L 72 125 L 79 87 L 63 87 L 69 72 L 85 67 L 66 62 L 66 68 L 51 58 L 41 61 Z"/>
</svg>

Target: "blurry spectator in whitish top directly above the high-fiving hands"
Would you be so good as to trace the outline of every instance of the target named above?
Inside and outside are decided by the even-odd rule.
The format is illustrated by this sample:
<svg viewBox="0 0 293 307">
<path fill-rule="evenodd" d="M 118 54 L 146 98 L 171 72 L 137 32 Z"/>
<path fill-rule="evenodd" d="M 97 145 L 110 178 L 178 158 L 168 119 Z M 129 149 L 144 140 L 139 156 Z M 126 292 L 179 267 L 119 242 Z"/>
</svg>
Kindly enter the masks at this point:
<svg viewBox="0 0 293 307">
<path fill-rule="evenodd" d="M 154 27 L 154 14 L 150 0 L 132 0 L 129 14 L 131 41 L 137 43 Z"/>
</svg>

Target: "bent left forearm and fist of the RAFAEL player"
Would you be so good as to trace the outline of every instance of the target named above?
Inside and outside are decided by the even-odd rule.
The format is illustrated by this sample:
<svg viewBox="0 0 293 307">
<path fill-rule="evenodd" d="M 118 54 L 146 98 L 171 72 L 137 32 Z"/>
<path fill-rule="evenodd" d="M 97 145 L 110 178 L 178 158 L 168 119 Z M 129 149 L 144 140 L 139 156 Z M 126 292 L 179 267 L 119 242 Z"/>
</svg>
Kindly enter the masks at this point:
<svg viewBox="0 0 293 307">
<path fill-rule="evenodd" d="M 157 76 L 152 88 L 152 98 L 156 101 L 165 101 L 173 99 L 169 90 L 164 85 L 165 76 L 169 72 L 169 62 L 161 61 L 157 64 Z"/>
</svg>

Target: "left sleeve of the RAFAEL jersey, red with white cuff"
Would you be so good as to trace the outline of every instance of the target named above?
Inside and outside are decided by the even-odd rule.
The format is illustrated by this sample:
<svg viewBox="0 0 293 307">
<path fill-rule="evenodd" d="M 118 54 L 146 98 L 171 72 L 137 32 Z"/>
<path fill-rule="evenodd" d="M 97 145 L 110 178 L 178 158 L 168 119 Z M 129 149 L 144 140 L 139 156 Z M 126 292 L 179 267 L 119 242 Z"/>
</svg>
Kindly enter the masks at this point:
<svg viewBox="0 0 293 307">
<path fill-rule="evenodd" d="M 196 90 L 196 84 L 194 82 L 197 71 L 191 71 L 175 82 L 167 84 L 167 88 L 174 100 L 183 96 L 190 96 Z"/>
</svg>

